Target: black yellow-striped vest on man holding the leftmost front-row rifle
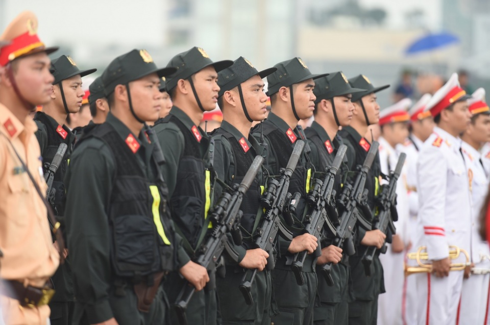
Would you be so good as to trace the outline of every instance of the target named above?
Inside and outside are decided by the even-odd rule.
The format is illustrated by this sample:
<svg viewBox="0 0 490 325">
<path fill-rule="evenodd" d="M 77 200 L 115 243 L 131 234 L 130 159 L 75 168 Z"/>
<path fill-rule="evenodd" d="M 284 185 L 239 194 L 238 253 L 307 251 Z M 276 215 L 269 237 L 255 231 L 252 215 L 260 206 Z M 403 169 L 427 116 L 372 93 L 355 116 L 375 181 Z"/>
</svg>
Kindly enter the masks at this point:
<svg viewBox="0 0 490 325">
<path fill-rule="evenodd" d="M 170 210 L 173 220 L 181 233 L 185 248 L 197 248 L 202 234 L 209 223 L 206 222 L 207 212 L 211 205 L 211 193 L 213 190 L 215 173 L 206 168 L 198 143 L 185 124 L 174 115 L 167 115 L 160 123 L 174 123 L 184 136 L 184 151 L 179 159 L 176 186 L 170 198 Z M 201 141 L 208 141 L 202 138 Z"/>
</svg>

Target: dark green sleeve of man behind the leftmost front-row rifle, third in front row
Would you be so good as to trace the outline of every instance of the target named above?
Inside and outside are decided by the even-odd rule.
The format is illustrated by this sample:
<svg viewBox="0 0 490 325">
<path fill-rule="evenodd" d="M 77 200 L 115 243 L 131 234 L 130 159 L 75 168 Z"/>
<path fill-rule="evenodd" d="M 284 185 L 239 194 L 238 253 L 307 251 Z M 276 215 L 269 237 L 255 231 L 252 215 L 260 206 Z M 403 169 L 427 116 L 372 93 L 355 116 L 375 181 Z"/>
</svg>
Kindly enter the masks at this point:
<svg viewBox="0 0 490 325">
<path fill-rule="evenodd" d="M 214 141 L 214 170 L 216 171 L 218 178 L 226 182 L 229 180 L 228 175 L 231 164 L 231 148 L 229 148 L 229 150 L 226 149 L 225 143 L 222 141 L 221 136 L 215 137 Z M 216 202 L 222 192 L 223 187 L 220 184 L 216 183 L 216 185 L 214 186 L 214 198 Z M 231 248 L 238 254 L 237 263 L 240 263 L 243 257 L 245 257 L 247 250 L 243 246 L 235 245 L 231 234 L 228 234 L 228 243 L 230 244 Z"/>
</svg>

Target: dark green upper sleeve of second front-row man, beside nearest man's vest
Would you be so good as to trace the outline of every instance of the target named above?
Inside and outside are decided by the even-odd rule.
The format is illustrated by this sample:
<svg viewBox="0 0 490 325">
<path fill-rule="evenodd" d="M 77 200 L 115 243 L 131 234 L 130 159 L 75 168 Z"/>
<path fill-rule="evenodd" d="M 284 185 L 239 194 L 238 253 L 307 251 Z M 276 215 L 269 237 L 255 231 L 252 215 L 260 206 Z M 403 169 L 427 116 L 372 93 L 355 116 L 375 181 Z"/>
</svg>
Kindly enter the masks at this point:
<svg viewBox="0 0 490 325">
<path fill-rule="evenodd" d="M 162 173 L 168 187 L 168 197 L 174 194 L 177 182 L 177 169 L 180 157 L 184 148 L 184 136 L 179 130 L 171 127 L 155 126 L 155 132 L 162 147 L 165 164 L 162 166 Z"/>
</svg>

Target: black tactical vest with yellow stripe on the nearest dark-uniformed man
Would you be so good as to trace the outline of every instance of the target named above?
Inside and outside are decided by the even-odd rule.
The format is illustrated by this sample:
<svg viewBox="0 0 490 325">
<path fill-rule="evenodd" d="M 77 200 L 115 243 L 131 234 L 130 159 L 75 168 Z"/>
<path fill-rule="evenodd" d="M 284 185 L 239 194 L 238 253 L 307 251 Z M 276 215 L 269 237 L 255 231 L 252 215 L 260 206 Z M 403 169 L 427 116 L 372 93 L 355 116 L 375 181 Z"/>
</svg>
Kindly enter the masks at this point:
<svg viewBox="0 0 490 325">
<path fill-rule="evenodd" d="M 135 154 L 110 124 L 87 126 L 80 143 L 91 137 L 106 143 L 116 165 L 106 205 L 114 274 L 139 278 L 172 270 L 173 228 L 166 209 L 166 184 L 145 177 Z"/>
</svg>

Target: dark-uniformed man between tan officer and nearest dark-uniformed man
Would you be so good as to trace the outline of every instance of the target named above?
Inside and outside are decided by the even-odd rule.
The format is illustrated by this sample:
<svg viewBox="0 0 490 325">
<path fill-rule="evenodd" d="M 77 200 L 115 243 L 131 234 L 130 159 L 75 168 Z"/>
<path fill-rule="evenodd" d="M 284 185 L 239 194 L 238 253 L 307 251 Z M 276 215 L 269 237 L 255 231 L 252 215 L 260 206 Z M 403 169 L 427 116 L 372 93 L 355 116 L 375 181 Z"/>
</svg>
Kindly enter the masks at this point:
<svg viewBox="0 0 490 325">
<path fill-rule="evenodd" d="M 36 138 L 39 141 L 42 156 L 43 171 L 50 167 L 60 144 L 68 145 L 60 167 L 53 181 L 53 195 L 48 194 L 48 201 L 53 206 L 57 218 L 61 221 L 65 212 L 65 186 L 63 179 L 70 159 L 75 135 L 64 125 L 69 113 L 77 113 L 82 105 L 82 77 L 96 69 L 80 70 L 75 62 L 67 56 L 61 56 L 52 61 L 51 73 L 55 77 L 51 102 L 43 106 L 43 111 L 36 113 L 38 130 Z M 64 223 L 62 222 L 62 225 Z M 62 226 L 63 227 L 63 226 Z M 52 277 L 56 293 L 50 303 L 51 323 L 68 324 L 74 307 L 73 283 L 71 281 L 70 258 L 61 264 Z"/>
</svg>

